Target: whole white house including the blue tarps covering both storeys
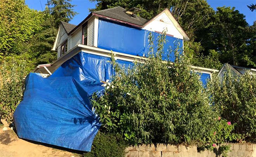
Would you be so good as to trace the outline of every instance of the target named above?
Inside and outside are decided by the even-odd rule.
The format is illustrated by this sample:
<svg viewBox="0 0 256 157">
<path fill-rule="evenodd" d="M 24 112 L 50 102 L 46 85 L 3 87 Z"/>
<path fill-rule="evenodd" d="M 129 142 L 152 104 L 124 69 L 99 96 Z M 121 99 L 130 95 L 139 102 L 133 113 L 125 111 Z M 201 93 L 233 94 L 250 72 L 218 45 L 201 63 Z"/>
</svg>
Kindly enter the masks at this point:
<svg viewBox="0 0 256 157">
<path fill-rule="evenodd" d="M 111 53 L 116 54 L 118 64 L 130 66 L 134 60 L 146 59 L 149 34 L 155 36 L 152 41 L 156 45 L 157 36 L 166 30 L 169 42 L 164 50 L 173 47 L 182 52 L 183 41 L 189 40 L 170 10 L 150 20 L 136 16 L 138 11 L 114 7 L 92 12 L 78 26 L 61 22 L 53 47 L 57 60 L 34 69 L 50 76 L 30 73 L 26 78 L 23 100 L 14 112 L 19 138 L 91 150 L 101 124 L 90 100 L 93 93 L 104 91 L 102 81 L 114 74 Z M 217 72 L 194 66 L 191 69 L 202 74 L 203 83 Z"/>
</svg>

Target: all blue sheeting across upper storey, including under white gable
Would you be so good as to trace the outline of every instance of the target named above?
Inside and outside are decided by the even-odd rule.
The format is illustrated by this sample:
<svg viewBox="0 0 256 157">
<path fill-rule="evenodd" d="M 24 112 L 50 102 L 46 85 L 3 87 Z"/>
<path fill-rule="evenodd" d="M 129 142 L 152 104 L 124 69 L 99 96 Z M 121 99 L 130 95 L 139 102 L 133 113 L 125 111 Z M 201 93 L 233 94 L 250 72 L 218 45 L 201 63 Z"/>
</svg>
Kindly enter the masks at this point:
<svg viewBox="0 0 256 157">
<path fill-rule="evenodd" d="M 97 47 L 130 55 L 147 56 L 149 52 L 149 33 L 150 31 L 145 29 L 138 29 L 99 18 Z M 154 37 L 154 46 L 156 47 L 159 33 L 152 32 L 152 35 Z M 166 41 L 168 42 L 164 45 L 164 52 L 168 52 L 170 46 L 173 49 L 178 44 L 181 49 L 183 48 L 183 40 L 181 39 L 166 36 Z M 167 53 L 163 59 L 168 60 Z M 174 53 L 170 54 L 170 60 L 174 61 Z"/>
</svg>

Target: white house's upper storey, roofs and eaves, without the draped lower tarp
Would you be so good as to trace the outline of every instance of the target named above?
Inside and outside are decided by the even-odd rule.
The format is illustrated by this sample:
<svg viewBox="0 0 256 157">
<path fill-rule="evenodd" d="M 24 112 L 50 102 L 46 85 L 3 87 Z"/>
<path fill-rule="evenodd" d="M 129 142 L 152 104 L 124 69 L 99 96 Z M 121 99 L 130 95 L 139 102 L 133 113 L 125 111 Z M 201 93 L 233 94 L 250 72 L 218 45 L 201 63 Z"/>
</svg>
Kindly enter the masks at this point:
<svg viewBox="0 0 256 157">
<path fill-rule="evenodd" d="M 147 57 L 149 33 L 154 36 L 154 45 L 157 45 L 156 38 L 164 30 L 168 41 L 164 51 L 167 52 L 169 47 L 183 50 L 183 41 L 189 40 L 189 37 L 169 9 L 164 9 L 150 20 L 136 16 L 135 13 L 139 11 L 136 8 L 126 10 L 118 6 L 92 12 L 77 26 L 61 22 L 52 48 L 57 51 L 57 60 L 51 64 L 38 65 L 33 72 L 50 75 L 79 52 L 110 57 L 112 50 L 119 60 L 133 62 Z M 174 60 L 173 53 L 170 57 Z M 213 72 L 217 72 L 201 67 L 192 69 L 202 73 L 204 83 Z"/>
</svg>

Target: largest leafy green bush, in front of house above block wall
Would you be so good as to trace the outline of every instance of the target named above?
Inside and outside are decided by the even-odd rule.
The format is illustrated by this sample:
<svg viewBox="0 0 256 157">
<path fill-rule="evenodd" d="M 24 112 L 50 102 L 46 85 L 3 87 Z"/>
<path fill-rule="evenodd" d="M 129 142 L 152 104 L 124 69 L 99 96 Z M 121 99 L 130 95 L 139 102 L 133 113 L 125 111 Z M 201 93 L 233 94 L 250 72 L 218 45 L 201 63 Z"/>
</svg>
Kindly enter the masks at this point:
<svg viewBox="0 0 256 157">
<path fill-rule="evenodd" d="M 126 69 L 112 55 L 116 75 L 103 82 L 105 91 L 94 93 L 92 100 L 101 130 L 119 133 L 130 144 L 196 143 L 211 149 L 232 139 L 233 126 L 218 120 L 209 93 L 179 53 L 174 63 L 163 62 L 160 48 Z"/>
</svg>

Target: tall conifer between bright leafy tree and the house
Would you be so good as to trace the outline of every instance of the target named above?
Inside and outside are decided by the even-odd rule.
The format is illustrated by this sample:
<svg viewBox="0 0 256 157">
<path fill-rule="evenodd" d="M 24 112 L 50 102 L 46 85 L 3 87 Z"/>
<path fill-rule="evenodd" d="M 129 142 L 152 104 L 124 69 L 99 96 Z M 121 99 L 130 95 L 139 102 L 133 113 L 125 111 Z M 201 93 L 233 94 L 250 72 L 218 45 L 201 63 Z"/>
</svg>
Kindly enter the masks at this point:
<svg viewBox="0 0 256 157">
<path fill-rule="evenodd" d="M 74 5 L 71 0 L 49 0 L 48 7 L 42 12 L 42 29 L 36 37 L 31 40 L 30 52 L 35 60 L 35 64 L 46 64 L 57 59 L 57 54 L 52 50 L 54 41 L 61 21 L 69 22 L 77 14 L 73 11 Z"/>
</svg>

